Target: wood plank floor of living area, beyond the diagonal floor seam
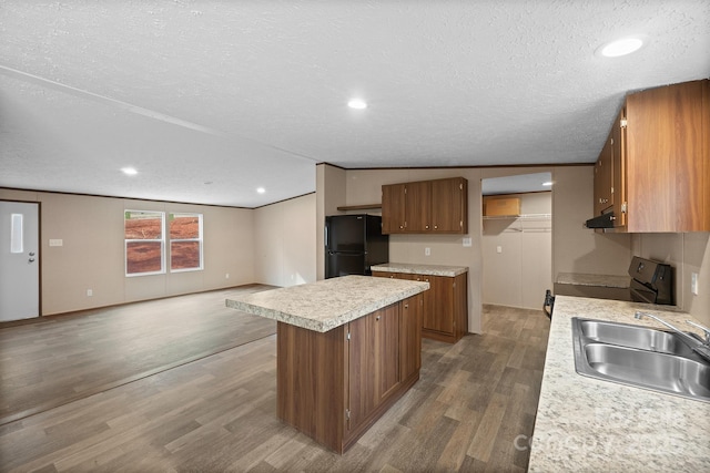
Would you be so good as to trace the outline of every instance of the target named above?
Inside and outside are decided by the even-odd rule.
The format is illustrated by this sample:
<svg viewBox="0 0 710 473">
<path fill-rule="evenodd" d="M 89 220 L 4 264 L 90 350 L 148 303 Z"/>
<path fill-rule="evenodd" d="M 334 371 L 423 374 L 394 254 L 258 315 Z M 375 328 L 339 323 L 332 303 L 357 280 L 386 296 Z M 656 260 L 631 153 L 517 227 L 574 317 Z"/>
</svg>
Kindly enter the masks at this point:
<svg viewBox="0 0 710 473">
<path fill-rule="evenodd" d="M 276 332 L 224 306 L 250 285 L 0 328 L 0 424 Z"/>
</svg>

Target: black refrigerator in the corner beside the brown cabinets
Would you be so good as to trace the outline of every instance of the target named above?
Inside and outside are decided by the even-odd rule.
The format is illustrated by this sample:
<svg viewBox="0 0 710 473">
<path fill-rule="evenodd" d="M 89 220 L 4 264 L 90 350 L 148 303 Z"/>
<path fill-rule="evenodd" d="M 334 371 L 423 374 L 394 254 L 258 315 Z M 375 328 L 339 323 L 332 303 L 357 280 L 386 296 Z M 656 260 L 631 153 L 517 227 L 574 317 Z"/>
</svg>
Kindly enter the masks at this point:
<svg viewBox="0 0 710 473">
<path fill-rule="evenodd" d="M 372 275 L 373 265 L 389 260 L 389 235 L 378 215 L 325 217 L 325 277 Z"/>
</svg>

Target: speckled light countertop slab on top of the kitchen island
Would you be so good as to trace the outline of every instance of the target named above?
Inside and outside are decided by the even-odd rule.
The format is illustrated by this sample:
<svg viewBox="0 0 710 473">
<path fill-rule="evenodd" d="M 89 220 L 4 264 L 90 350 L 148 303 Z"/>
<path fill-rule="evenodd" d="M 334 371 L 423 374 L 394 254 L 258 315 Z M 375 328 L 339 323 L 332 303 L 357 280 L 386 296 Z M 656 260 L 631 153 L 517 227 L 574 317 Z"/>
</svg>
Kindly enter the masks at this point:
<svg viewBox="0 0 710 473">
<path fill-rule="evenodd" d="M 326 332 L 428 288 L 429 284 L 422 281 L 343 276 L 226 299 L 226 306 Z"/>
</svg>

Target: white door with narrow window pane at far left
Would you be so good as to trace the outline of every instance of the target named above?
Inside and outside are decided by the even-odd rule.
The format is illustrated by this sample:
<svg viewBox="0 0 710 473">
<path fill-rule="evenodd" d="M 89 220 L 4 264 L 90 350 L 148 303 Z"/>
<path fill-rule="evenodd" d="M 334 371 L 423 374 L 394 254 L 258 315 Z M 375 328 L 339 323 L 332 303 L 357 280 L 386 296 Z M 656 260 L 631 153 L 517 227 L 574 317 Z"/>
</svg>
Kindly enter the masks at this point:
<svg viewBox="0 0 710 473">
<path fill-rule="evenodd" d="M 40 315 L 39 204 L 0 200 L 0 321 Z"/>
</svg>

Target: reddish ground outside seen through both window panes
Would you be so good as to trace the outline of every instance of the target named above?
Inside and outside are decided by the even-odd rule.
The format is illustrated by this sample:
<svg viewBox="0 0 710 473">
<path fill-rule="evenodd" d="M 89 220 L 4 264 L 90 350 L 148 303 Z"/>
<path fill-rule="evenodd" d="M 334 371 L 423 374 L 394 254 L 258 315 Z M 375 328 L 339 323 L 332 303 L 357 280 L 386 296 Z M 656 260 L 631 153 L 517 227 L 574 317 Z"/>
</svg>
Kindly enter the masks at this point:
<svg viewBox="0 0 710 473">
<path fill-rule="evenodd" d="M 158 212 L 126 212 L 126 274 L 160 273 L 162 270 L 162 214 Z M 170 219 L 171 269 L 200 268 L 199 215 L 173 215 Z"/>
</svg>

